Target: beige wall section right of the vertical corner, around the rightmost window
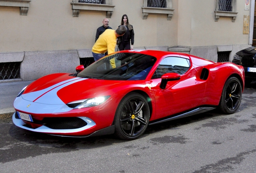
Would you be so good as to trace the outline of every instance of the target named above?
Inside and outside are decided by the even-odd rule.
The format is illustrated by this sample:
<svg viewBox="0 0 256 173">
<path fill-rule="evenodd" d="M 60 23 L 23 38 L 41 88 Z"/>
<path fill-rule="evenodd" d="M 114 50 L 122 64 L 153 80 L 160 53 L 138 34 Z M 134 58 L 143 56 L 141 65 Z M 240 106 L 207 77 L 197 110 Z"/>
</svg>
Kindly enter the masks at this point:
<svg viewBox="0 0 256 173">
<path fill-rule="evenodd" d="M 243 34 L 244 0 L 237 0 L 237 18 L 220 17 L 215 21 L 215 0 L 178 1 L 178 45 L 214 46 L 248 44 L 248 34 Z"/>
</svg>

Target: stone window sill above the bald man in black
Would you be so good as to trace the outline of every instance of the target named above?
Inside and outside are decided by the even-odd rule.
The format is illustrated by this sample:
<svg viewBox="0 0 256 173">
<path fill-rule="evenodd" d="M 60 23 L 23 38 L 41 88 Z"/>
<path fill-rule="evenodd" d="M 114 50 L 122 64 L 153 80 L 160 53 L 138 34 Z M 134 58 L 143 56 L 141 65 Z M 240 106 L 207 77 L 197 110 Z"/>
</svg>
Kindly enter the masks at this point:
<svg viewBox="0 0 256 173">
<path fill-rule="evenodd" d="M 94 10 L 94 11 L 106 11 L 106 18 L 111 18 L 114 11 L 114 5 L 110 4 L 91 4 L 91 3 L 80 3 L 71 2 L 72 5 L 72 16 L 78 17 L 80 10 Z"/>
</svg>

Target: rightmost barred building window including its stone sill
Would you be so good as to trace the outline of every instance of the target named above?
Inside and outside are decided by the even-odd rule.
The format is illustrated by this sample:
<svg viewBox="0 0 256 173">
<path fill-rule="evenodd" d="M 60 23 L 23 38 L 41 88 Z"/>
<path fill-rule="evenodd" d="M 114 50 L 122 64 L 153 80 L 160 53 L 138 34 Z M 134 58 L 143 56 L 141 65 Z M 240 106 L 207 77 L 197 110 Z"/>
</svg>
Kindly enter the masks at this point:
<svg viewBox="0 0 256 173">
<path fill-rule="evenodd" d="M 236 0 L 215 0 L 215 21 L 220 17 L 231 17 L 235 22 L 237 17 Z"/>
</svg>

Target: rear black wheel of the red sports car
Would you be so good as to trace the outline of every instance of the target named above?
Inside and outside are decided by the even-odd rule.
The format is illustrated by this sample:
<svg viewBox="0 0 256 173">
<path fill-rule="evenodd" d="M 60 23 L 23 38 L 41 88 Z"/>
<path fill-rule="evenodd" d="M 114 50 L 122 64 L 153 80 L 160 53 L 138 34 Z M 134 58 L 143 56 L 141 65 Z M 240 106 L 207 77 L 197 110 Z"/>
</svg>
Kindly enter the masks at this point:
<svg viewBox="0 0 256 173">
<path fill-rule="evenodd" d="M 236 77 L 229 78 L 223 87 L 219 108 L 223 113 L 237 111 L 242 99 L 242 86 Z"/>
</svg>

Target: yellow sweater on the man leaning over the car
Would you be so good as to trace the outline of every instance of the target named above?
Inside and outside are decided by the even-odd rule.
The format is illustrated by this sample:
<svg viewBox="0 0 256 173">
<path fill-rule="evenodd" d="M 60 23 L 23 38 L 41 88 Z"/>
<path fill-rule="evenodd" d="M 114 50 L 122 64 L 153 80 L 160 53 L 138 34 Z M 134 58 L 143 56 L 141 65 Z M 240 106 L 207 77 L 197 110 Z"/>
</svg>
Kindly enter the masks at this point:
<svg viewBox="0 0 256 173">
<path fill-rule="evenodd" d="M 116 48 L 116 34 L 115 30 L 106 29 L 95 42 L 92 48 L 92 52 L 94 53 L 105 53 L 111 54 L 115 52 Z"/>
</svg>

